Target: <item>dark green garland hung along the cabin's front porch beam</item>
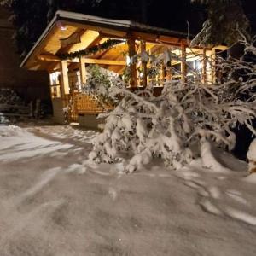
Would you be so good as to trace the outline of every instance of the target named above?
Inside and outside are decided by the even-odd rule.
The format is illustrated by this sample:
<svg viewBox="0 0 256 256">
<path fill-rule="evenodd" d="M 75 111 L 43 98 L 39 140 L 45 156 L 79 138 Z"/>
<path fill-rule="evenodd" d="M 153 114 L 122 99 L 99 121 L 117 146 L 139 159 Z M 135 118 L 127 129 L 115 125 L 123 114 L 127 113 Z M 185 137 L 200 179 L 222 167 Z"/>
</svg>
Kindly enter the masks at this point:
<svg viewBox="0 0 256 256">
<path fill-rule="evenodd" d="M 72 60 L 72 59 L 79 58 L 82 56 L 95 55 L 96 53 L 98 53 L 100 51 L 111 49 L 111 48 L 113 48 L 113 46 L 115 46 L 117 44 L 121 44 L 121 43 L 124 43 L 124 40 L 108 39 L 106 42 L 104 42 L 102 44 L 97 44 L 97 45 L 91 46 L 87 49 L 82 49 L 82 50 L 74 51 L 71 53 L 58 54 L 57 56 L 61 60 Z"/>
</svg>

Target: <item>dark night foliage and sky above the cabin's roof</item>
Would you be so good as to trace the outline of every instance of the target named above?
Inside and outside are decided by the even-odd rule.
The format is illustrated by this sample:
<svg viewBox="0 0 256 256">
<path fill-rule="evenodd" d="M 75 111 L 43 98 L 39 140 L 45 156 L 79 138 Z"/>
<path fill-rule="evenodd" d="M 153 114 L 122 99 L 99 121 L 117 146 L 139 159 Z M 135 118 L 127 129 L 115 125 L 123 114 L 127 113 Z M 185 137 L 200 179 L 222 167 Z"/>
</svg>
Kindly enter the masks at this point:
<svg viewBox="0 0 256 256">
<path fill-rule="evenodd" d="M 113 19 L 136 20 L 183 32 L 188 31 L 189 25 L 189 32 L 195 34 L 207 19 L 208 8 L 207 4 L 201 4 L 204 1 L 197 3 L 191 0 L 0 0 L 1 2 L 9 5 L 13 14 L 12 21 L 17 28 L 15 41 L 19 53 L 23 55 L 32 48 L 58 9 Z M 241 0 L 252 26 L 256 26 L 254 2 Z M 214 12 L 218 13 L 218 10 Z"/>
</svg>

